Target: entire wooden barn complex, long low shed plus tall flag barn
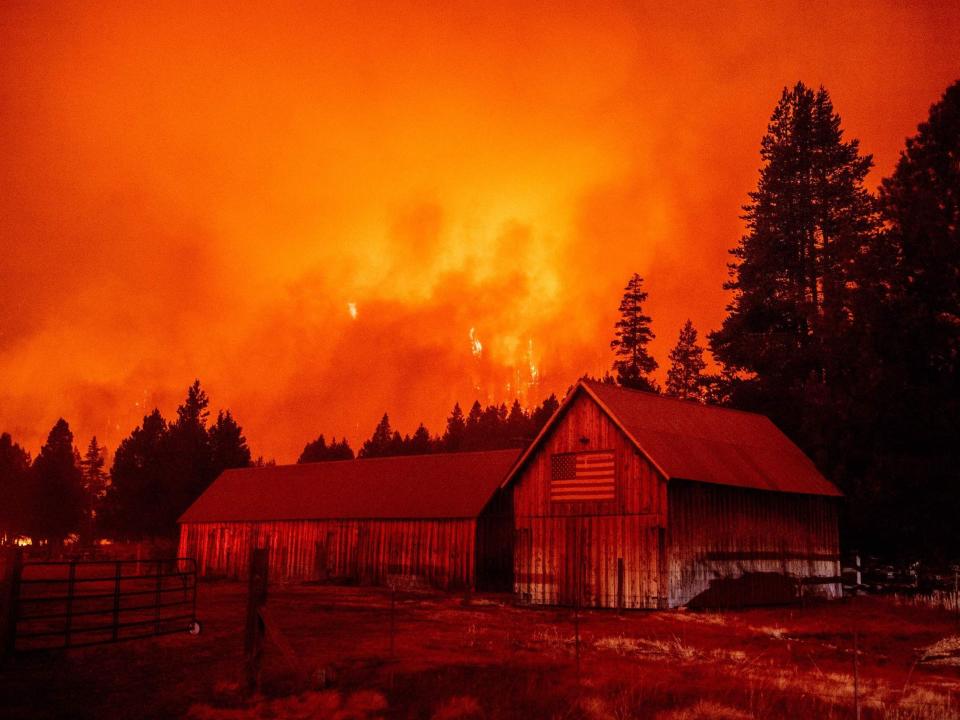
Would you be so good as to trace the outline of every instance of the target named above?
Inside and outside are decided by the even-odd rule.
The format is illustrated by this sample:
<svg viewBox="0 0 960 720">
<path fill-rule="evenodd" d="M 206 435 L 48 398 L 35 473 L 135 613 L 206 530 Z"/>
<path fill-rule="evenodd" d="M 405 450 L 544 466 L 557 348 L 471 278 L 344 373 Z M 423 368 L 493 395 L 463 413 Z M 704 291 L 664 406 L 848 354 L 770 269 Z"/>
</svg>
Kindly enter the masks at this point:
<svg viewBox="0 0 960 720">
<path fill-rule="evenodd" d="M 840 593 L 840 492 L 770 420 L 579 383 L 530 446 L 224 472 L 180 519 L 202 575 L 667 608 Z"/>
</svg>

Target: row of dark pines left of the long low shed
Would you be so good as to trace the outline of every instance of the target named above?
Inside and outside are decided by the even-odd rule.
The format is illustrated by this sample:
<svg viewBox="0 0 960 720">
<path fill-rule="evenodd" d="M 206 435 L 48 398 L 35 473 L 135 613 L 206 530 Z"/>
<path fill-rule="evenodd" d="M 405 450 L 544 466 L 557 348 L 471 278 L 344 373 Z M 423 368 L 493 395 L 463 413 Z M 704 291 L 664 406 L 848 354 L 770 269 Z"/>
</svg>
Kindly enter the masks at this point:
<svg viewBox="0 0 960 720">
<path fill-rule="evenodd" d="M 0 542 L 29 537 L 61 545 L 171 536 L 177 518 L 223 470 L 251 464 L 243 430 L 229 410 L 210 422 L 209 398 L 195 381 L 177 417 L 158 409 L 117 447 L 109 473 L 106 452 L 91 439 L 81 457 L 60 418 L 36 459 L 0 435 Z"/>
</svg>

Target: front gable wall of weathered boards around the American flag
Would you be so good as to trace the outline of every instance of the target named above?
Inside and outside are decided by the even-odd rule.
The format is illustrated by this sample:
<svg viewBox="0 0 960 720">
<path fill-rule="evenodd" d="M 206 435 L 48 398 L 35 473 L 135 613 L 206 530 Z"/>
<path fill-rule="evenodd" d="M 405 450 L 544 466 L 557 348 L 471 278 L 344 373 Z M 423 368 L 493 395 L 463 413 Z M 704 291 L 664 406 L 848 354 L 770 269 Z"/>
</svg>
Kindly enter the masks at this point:
<svg viewBox="0 0 960 720">
<path fill-rule="evenodd" d="M 551 501 L 551 456 L 593 450 L 615 452 L 616 499 Z M 574 401 L 528 459 L 512 484 L 512 501 L 514 592 L 522 602 L 579 602 L 586 607 L 617 607 L 622 602 L 632 608 L 662 604 L 666 482 L 585 395 Z"/>
</svg>

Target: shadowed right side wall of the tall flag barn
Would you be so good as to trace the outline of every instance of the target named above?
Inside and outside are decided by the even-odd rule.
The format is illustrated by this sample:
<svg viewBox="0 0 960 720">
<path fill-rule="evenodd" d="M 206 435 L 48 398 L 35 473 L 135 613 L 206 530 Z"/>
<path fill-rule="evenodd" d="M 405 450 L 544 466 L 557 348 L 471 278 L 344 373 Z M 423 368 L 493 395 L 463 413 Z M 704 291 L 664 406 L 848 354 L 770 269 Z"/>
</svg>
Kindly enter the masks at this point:
<svg viewBox="0 0 960 720">
<path fill-rule="evenodd" d="M 670 606 L 684 605 L 711 580 L 744 573 L 827 579 L 840 575 L 836 498 L 671 481 Z M 819 588 L 838 597 L 837 582 Z"/>
</svg>

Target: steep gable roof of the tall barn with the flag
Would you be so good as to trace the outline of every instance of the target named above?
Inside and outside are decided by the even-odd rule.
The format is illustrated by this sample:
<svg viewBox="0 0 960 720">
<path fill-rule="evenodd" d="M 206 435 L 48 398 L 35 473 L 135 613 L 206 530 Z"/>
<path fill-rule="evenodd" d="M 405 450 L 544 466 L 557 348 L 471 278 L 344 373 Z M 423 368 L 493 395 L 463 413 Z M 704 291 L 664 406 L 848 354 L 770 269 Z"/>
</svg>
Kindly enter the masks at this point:
<svg viewBox="0 0 960 720">
<path fill-rule="evenodd" d="M 509 483 L 577 397 L 585 395 L 668 480 L 828 495 L 840 491 L 764 415 L 581 380 L 510 471 Z"/>
</svg>

